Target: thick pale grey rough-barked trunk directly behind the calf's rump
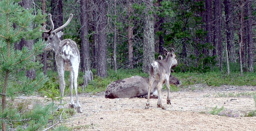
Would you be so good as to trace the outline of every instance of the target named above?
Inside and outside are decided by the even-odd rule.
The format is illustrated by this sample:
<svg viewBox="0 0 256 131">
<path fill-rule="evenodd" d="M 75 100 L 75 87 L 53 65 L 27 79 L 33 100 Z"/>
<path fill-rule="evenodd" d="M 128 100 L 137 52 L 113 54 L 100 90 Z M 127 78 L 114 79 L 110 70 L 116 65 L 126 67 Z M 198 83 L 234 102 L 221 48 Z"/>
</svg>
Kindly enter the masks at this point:
<svg viewBox="0 0 256 131">
<path fill-rule="evenodd" d="M 155 60 L 154 42 L 154 21 L 153 15 L 148 13 L 151 9 L 153 0 L 146 3 L 146 15 L 144 17 L 144 38 L 143 38 L 143 71 L 150 72 L 152 62 Z"/>
</svg>

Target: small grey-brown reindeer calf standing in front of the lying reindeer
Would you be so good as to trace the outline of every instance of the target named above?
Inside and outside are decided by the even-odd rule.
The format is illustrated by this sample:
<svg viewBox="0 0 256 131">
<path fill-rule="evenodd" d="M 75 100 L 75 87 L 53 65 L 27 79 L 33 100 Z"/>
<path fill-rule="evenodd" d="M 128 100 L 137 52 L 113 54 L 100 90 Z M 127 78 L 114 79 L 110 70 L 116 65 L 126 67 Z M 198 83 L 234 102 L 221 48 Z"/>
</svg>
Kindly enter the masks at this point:
<svg viewBox="0 0 256 131">
<path fill-rule="evenodd" d="M 168 52 L 166 49 L 164 49 L 164 52 L 166 54 L 166 58 L 164 60 L 158 60 L 153 61 L 150 68 L 150 78 L 149 78 L 149 84 L 148 84 L 148 96 L 147 96 L 147 102 L 145 109 L 148 109 L 150 106 L 149 100 L 150 100 L 150 91 L 152 89 L 152 85 L 154 81 L 157 82 L 157 92 L 158 92 L 158 101 L 157 101 L 157 107 L 161 107 L 162 109 L 165 109 L 163 106 L 163 101 L 161 97 L 161 86 L 165 82 L 167 87 L 167 104 L 171 104 L 170 101 L 170 85 L 169 85 L 169 76 L 170 76 L 170 69 L 172 66 L 177 65 L 176 55 L 174 54 L 174 49 L 170 52 Z"/>
</svg>

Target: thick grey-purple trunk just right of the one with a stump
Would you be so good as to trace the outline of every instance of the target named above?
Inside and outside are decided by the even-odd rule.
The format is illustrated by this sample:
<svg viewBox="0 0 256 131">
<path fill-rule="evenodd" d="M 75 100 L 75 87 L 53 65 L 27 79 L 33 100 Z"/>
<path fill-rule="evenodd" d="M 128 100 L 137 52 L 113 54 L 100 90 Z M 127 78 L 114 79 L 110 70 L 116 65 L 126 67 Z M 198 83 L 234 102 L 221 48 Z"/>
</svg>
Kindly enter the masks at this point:
<svg viewBox="0 0 256 131">
<path fill-rule="evenodd" d="M 97 75 L 100 77 L 107 76 L 107 66 L 106 66 L 106 1 L 98 0 L 98 12 L 97 21 L 98 25 L 98 52 L 97 52 Z"/>
</svg>

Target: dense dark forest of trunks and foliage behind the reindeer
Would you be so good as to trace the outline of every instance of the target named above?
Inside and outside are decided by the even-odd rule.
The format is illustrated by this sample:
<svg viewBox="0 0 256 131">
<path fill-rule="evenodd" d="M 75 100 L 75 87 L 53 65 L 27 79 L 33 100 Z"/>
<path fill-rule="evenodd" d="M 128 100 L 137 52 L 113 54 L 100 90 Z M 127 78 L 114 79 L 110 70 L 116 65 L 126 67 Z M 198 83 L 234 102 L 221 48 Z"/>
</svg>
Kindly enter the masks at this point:
<svg viewBox="0 0 256 131">
<path fill-rule="evenodd" d="M 207 72 L 215 67 L 227 72 L 253 72 L 255 62 L 254 0 L 23 0 L 19 2 L 36 14 L 52 14 L 59 27 L 72 13 L 63 29 L 63 39 L 77 42 L 80 70 L 97 70 L 106 77 L 109 68 L 142 67 L 163 49 L 173 47 L 177 72 Z M 28 4 L 29 6 L 27 7 Z M 40 10 L 38 10 L 40 9 Z M 49 27 L 47 27 L 49 28 Z M 20 44 L 22 45 L 22 44 Z M 37 60 L 44 72 L 56 70 L 53 52 Z M 235 65 L 235 69 L 229 69 Z"/>
</svg>

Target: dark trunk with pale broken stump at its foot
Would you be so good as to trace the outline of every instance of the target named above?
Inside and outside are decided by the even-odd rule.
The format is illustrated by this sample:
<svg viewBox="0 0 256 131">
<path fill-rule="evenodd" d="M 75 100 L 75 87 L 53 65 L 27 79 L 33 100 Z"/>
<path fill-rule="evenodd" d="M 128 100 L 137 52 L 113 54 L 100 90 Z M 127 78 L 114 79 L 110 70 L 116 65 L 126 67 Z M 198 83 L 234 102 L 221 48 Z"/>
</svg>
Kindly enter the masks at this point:
<svg viewBox="0 0 256 131">
<path fill-rule="evenodd" d="M 93 75 L 92 71 L 90 69 L 91 62 L 90 62 L 90 45 L 88 40 L 88 12 L 86 9 L 88 9 L 88 1 L 82 0 L 80 1 L 80 23 L 81 23 L 81 32 L 80 32 L 80 38 L 81 38 L 81 68 L 82 72 L 84 72 L 83 76 L 83 91 L 84 87 L 88 86 L 90 81 L 93 81 Z"/>
</svg>

